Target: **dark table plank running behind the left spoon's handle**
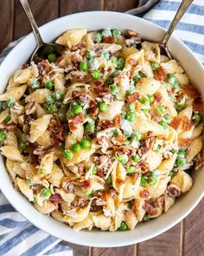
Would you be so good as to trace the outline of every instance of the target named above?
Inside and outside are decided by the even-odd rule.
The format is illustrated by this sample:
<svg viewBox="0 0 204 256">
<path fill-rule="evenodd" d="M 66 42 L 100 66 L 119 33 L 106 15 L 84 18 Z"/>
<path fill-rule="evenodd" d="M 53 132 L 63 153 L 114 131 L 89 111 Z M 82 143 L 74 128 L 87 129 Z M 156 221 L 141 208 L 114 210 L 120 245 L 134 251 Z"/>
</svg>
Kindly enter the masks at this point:
<svg viewBox="0 0 204 256">
<path fill-rule="evenodd" d="M 58 16 L 58 4 L 58 0 L 29 0 L 30 9 L 38 26 L 48 23 Z M 18 0 L 15 1 L 14 22 L 14 39 L 27 35 L 31 31 L 27 16 Z"/>
</svg>

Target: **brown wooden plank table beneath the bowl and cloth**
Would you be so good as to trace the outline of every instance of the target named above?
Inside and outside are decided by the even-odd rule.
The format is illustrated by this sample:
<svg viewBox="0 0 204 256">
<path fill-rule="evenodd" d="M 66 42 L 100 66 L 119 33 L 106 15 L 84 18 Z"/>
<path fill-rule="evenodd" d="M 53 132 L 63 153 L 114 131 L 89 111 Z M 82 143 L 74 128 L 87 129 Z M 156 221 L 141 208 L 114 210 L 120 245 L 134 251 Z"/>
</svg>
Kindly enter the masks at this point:
<svg viewBox="0 0 204 256">
<path fill-rule="evenodd" d="M 137 0 L 30 0 L 38 25 L 58 16 L 85 10 L 125 11 L 137 6 Z M 0 50 L 17 38 L 27 35 L 29 23 L 16 0 L 0 0 Z M 125 233 L 124 233 L 125 235 Z M 118 248 L 73 247 L 76 256 L 203 256 L 204 200 L 185 220 L 152 240 Z"/>
</svg>

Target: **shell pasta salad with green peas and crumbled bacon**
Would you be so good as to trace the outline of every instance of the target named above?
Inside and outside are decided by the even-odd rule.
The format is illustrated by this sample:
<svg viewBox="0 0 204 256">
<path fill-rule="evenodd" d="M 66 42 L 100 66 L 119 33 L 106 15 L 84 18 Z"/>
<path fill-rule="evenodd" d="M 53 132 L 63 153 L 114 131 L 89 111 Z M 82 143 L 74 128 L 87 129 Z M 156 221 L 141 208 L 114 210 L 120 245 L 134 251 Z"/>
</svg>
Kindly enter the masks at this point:
<svg viewBox="0 0 204 256">
<path fill-rule="evenodd" d="M 134 229 L 169 211 L 202 164 L 200 92 L 133 30 L 67 30 L 0 95 L 16 190 L 75 230 Z"/>
</svg>

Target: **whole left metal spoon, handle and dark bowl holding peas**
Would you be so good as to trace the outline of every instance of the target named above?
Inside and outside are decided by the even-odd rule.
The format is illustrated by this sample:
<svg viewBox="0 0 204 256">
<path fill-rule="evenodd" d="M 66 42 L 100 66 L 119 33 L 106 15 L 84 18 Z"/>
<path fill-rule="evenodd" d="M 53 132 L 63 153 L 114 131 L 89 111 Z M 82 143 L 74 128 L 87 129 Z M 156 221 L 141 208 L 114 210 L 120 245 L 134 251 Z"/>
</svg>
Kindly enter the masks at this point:
<svg viewBox="0 0 204 256">
<path fill-rule="evenodd" d="M 30 62 L 40 62 L 43 58 L 48 58 L 49 54 L 54 54 L 56 56 L 61 55 L 61 52 L 64 50 L 63 47 L 56 43 L 44 43 L 41 38 L 41 33 L 35 23 L 34 16 L 29 8 L 29 3 L 27 0 L 19 0 L 22 4 L 22 8 L 25 11 L 26 16 L 29 19 L 29 23 L 32 27 L 32 30 L 35 35 L 35 39 L 37 41 L 37 47 L 33 52 Z M 53 56 L 54 57 L 54 56 Z"/>
</svg>

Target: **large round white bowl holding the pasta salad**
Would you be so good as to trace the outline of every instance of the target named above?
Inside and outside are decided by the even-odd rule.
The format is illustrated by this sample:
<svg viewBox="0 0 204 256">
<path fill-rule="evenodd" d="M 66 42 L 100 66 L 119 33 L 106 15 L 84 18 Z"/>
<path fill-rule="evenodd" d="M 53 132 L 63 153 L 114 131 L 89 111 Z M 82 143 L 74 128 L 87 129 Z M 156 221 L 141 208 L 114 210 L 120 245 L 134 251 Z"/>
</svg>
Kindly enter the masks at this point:
<svg viewBox="0 0 204 256">
<path fill-rule="evenodd" d="M 143 38 L 150 41 L 159 41 L 164 34 L 162 28 L 136 16 L 111 11 L 91 11 L 63 16 L 47 23 L 41 27 L 41 35 L 46 42 L 51 42 L 65 30 L 74 28 L 86 28 L 87 30 L 99 30 L 103 28 L 132 29 L 137 30 Z M 18 43 L 16 47 L 11 50 L 10 54 L 6 56 L 0 66 L 0 93 L 3 93 L 10 74 L 16 69 L 19 69 L 21 65 L 28 60 L 28 56 L 30 56 L 35 49 L 35 45 L 35 37 L 33 34 L 29 34 L 29 36 L 26 36 L 22 42 Z M 204 95 L 204 72 L 201 62 L 199 62 L 194 54 L 174 36 L 172 36 L 169 41 L 169 49 L 172 55 L 181 62 L 192 84 L 200 89 L 202 95 Z M 127 232 L 76 232 L 69 226 L 37 212 L 22 194 L 14 190 L 6 172 L 3 158 L 0 160 L 0 169 L 0 189 L 19 213 L 22 213 L 22 215 L 35 226 L 61 238 L 61 240 L 83 246 L 127 246 L 149 240 L 167 231 L 185 218 L 203 196 L 204 172 L 199 170 L 194 172 L 194 186 L 192 189 L 187 194 L 182 195 L 182 197 L 176 201 L 175 205 L 170 208 L 168 213 L 163 213 L 163 215 L 156 220 L 141 223 L 136 226 L 135 230 Z"/>
</svg>

